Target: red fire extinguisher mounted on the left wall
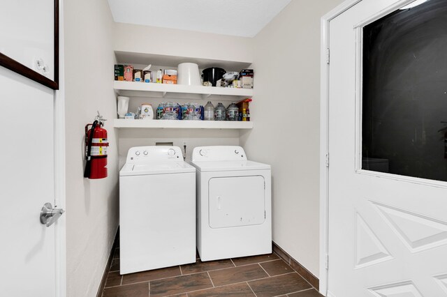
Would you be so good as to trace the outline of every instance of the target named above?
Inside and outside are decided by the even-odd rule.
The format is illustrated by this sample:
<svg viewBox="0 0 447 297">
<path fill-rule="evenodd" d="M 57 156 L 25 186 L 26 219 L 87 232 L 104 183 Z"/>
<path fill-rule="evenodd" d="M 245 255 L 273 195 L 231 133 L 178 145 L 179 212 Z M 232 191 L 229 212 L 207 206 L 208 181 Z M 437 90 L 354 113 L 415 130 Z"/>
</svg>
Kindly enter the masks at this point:
<svg viewBox="0 0 447 297">
<path fill-rule="evenodd" d="M 85 153 L 87 163 L 84 177 L 91 179 L 107 177 L 107 130 L 103 127 L 105 119 L 96 116 L 93 123 L 85 125 Z M 89 129 L 89 125 L 91 128 Z"/>
</svg>

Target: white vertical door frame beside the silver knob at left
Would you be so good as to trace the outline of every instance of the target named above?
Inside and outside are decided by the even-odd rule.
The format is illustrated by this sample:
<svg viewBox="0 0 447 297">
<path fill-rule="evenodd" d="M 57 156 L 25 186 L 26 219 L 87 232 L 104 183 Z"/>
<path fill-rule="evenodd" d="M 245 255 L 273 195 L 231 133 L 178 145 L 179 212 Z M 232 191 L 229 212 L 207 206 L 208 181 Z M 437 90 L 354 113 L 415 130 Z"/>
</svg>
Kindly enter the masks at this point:
<svg viewBox="0 0 447 297">
<path fill-rule="evenodd" d="M 59 90 L 54 91 L 54 204 L 66 209 L 65 195 L 65 77 L 64 77 L 64 0 L 59 0 Z M 57 297 L 66 290 L 66 213 L 54 224 L 54 267 Z"/>
</svg>

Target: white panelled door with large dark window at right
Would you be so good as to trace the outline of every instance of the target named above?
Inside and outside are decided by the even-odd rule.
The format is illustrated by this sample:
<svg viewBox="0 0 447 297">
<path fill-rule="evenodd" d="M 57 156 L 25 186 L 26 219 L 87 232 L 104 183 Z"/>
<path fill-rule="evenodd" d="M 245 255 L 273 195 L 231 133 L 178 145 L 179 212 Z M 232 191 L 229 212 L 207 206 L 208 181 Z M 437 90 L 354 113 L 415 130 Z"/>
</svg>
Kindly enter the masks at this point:
<svg viewBox="0 0 447 297">
<path fill-rule="evenodd" d="M 419 8 L 412 8 L 411 12 L 435 2 L 441 3 L 439 0 L 430 0 L 420 4 Z M 430 63 L 425 59 L 433 55 L 422 55 L 428 44 L 424 41 L 425 44 L 411 54 L 387 52 L 384 55 L 385 62 L 377 60 L 372 66 L 369 65 L 369 60 L 367 62 L 367 59 L 363 59 L 365 46 L 376 42 L 375 37 L 371 39 L 371 36 L 363 35 L 364 26 L 383 20 L 382 17 L 408 3 L 409 1 L 362 0 L 330 21 L 328 296 L 447 296 L 447 183 L 443 178 L 435 178 L 439 181 L 427 178 L 432 171 L 446 166 L 444 140 L 439 140 L 442 138 L 437 132 L 439 126 L 429 128 L 422 124 L 422 130 L 415 128 L 410 136 L 406 125 L 414 123 L 403 123 L 405 120 L 402 119 L 402 125 L 395 125 L 395 119 L 387 118 L 393 114 L 393 110 L 401 112 L 402 116 L 409 106 L 418 107 L 413 106 L 414 112 L 420 112 L 418 109 L 425 109 L 432 104 L 423 101 L 422 105 L 418 105 L 420 100 L 427 100 L 425 97 L 429 96 L 424 96 L 424 93 L 416 96 L 413 88 L 418 87 L 419 82 L 416 83 L 413 78 L 406 79 L 406 90 L 397 91 L 396 88 L 400 85 L 398 81 L 408 74 L 406 71 L 416 65 L 413 62 L 428 67 Z M 410 13 L 408 9 L 405 11 Z M 408 24 L 417 22 L 416 19 L 415 16 Z M 377 33 L 376 37 L 379 33 L 394 36 L 400 30 L 399 22 L 389 20 L 391 21 L 378 26 L 376 31 L 373 30 L 374 34 Z M 386 31 L 388 25 L 393 28 Z M 414 37 L 413 42 L 402 42 L 397 47 L 399 50 L 404 51 L 422 39 L 417 36 L 417 28 L 412 30 L 414 31 L 406 33 L 407 36 Z M 447 26 L 444 26 L 445 33 L 446 30 Z M 379 50 L 391 47 L 388 42 L 393 43 L 387 39 L 379 45 Z M 446 47 L 441 49 L 441 53 L 446 51 Z M 408 58 L 408 61 L 399 61 L 403 66 L 395 70 L 393 61 L 401 58 Z M 444 91 L 447 91 L 445 58 L 445 55 L 440 56 L 437 61 L 444 70 L 439 72 L 434 69 L 432 74 L 441 73 L 437 79 L 444 84 Z M 384 86 L 367 84 L 364 77 L 367 67 L 374 68 L 376 79 L 384 79 Z M 426 82 L 420 84 L 430 85 L 436 80 L 432 77 L 425 78 Z M 385 142 L 376 142 L 373 150 L 375 153 L 370 153 L 366 149 L 367 138 L 375 137 L 377 140 L 381 136 L 374 134 L 374 137 L 370 137 L 365 134 L 368 123 L 365 123 L 367 119 L 363 112 L 370 106 L 365 106 L 362 100 L 365 96 L 378 92 L 383 92 L 378 100 L 384 101 L 381 102 L 384 110 L 374 107 L 375 114 L 371 119 L 374 129 L 388 137 L 397 135 L 397 139 L 401 136 L 407 139 L 402 138 L 396 142 L 391 137 Z M 444 98 L 445 105 L 445 95 L 439 98 Z M 406 100 L 407 104 L 401 104 L 401 99 Z M 437 109 L 439 108 L 434 105 L 428 109 L 430 112 L 425 114 L 423 123 L 430 122 L 432 116 L 437 114 Z M 439 125 L 442 126 L 441 123 Z M 439 145 L 439 149 L 421 153 L 430 141 Z M 422 168 L 425 165 L 422 161 L 418 162 L 411 156 L 405 160 L 397 160 L 403 153 L 391 153 L 388 158 L 382 159 L 375 155 L 381 151 L 386 152 L 388 148 L 385 146 L 391 143 L 395 146 L 395 151 L 402 151 L 403 147 L 404 153 L 420 153 L 414 158 L 425 158 L 426 154 L 432 153 L 439 155 L 439 160 L 432 167 L 423 167 L 420 176 L 414 176 L 411 168 Z M 373 160 L 376 164 L 368 162 L 365 165 L 367 160 Z M 445 174 L 445 169 L 443 170 Z M 425 178 L 420 178 L 421 176 Z"/>
</svg>

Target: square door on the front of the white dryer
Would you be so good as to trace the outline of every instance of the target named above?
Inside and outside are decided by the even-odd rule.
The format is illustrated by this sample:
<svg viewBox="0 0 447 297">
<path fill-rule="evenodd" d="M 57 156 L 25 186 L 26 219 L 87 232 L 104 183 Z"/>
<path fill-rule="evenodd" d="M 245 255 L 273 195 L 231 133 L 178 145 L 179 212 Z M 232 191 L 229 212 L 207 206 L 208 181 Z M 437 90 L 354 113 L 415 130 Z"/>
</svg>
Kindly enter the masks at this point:
<svg viewBox="0 0 447 297">
<path fill-rule="evenodd" d="M 263 176 L 211 178 L 208 182 L 211 228 L 262 224 L 265 220 Z"/>
</svg>

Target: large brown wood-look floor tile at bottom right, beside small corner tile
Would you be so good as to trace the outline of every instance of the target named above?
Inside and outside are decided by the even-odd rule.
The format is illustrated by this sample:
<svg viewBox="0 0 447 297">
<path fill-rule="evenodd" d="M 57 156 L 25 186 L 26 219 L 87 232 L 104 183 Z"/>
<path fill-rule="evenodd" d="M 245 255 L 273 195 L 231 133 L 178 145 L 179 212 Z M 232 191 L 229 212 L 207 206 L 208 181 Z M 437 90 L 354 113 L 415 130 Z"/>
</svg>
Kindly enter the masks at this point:
<svg viewBox="0 0 447 297">
<path fill-rule="evenodd" d="M 272 297 L 312 288 L 298 273 L 288 273 L 249 282 L 258 297 Z"/>
</svg>

